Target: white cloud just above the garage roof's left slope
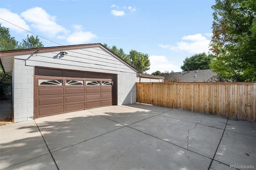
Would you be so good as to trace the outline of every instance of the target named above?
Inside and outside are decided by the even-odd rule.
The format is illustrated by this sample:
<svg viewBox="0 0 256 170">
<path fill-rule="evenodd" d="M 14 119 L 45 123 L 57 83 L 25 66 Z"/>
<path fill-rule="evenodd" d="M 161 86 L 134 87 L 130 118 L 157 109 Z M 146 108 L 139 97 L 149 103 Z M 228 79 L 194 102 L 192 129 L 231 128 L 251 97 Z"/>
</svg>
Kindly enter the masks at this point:
<svg viewBox="0 0 256 170">
<path fill-rule="evenodd" d="M 89 42 L 96 37 L 97 36 L 95 34 L 92 34 L 91 32 L 78 31 L 70 34 L 66 40 L 68 43 L 71 44 L 81 44 Z"/>
</svg>

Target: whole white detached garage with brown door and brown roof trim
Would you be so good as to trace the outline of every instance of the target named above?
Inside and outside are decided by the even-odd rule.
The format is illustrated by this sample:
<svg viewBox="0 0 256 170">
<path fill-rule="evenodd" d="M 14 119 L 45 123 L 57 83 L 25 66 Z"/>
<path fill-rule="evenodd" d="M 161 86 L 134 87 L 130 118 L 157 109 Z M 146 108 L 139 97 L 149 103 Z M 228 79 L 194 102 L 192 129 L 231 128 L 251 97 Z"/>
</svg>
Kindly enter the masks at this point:
<svg viewBox="0 0 256 170">
<path fill-rule="evenodd" d="M 14 122 L 136 102 L 137 70 L 100 43 L 0 51 Z"/>
</svg>

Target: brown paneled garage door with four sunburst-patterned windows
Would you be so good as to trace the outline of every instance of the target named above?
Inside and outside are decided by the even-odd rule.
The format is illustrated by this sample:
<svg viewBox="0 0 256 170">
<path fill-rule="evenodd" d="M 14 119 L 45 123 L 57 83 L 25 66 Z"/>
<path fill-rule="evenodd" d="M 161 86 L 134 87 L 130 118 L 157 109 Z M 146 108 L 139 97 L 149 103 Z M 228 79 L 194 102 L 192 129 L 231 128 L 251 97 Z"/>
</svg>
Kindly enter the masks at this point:
<svg viewBox="0 0 256 170">
<path fill-rule="evenodd" d="M 112 105 L 112 79 L 35 76 L 35 118 Z"/>
</svg>

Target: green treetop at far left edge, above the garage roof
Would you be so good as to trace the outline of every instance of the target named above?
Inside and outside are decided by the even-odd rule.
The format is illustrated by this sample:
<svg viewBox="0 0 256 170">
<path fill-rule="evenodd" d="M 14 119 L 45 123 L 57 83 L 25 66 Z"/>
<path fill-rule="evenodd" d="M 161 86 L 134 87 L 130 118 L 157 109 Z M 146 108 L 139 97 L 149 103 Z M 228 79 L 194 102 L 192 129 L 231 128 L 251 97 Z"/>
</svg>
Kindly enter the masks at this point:
<svg viewBox="0 0 256 170">
<path fill-rule="evenodd" d="M 9 28 L 2 27 L 0 24 L 0 51 L 8 51 L 18 48 L 18 42 L 11 37 Z"/>
</svg>

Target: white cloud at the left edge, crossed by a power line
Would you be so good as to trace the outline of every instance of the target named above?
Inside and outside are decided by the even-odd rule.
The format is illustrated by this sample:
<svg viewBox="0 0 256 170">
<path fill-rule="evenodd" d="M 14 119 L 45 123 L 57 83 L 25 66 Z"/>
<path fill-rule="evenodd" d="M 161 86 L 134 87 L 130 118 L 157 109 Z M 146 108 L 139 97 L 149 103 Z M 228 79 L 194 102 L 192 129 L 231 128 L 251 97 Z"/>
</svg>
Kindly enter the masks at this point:
<svg viewBox="0 0 256 170">
<path fill-rule="evenodd" d="M 20 18 L 18 14 L 12 13 L 5 8 L 0 8 L 0 14 L 2 19 L 16 25 L 14 26 L 8 22 L 5 22 L 4 20 L 0 20 L 0 23 L 2 24 L 2 26 L 6 28 L 10 28 L 10 30 L 14 30 L 15 32 L 18 32 L 18 33 L 25 32 L 25 30 L 28 30 L 28 31 L 30 30 L 28 24 L 26 24 L 26 22 L 22 18 Z M 18 28 L 17 26 L 25 30 Z"/>
</svg>

